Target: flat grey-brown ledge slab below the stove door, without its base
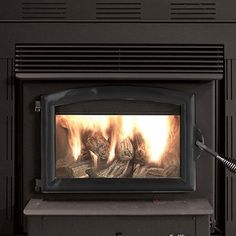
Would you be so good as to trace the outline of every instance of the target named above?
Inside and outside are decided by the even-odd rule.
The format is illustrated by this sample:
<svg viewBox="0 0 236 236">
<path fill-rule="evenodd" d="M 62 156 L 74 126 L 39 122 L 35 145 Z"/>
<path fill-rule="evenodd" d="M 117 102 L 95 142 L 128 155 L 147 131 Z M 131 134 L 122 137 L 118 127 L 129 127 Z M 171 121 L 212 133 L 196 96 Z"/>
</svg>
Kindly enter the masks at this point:
<svg viewBox="0 0 236 236">
<path fill-rule="evenodd" d="M 27 216 L 54 215 L 211 215 L 206 199 L 181 201 L 46 201 L 31 199 L 24 209 Z"/>
</svg>

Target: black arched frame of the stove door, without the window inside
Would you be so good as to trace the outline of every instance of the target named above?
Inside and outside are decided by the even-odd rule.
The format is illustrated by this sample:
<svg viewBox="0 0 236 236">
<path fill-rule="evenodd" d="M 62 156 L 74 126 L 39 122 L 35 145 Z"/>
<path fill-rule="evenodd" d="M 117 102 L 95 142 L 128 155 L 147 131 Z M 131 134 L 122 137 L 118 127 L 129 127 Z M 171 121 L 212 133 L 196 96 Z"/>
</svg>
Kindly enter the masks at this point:
<svg viewBox="0 0 236 236">
<path fill-rule="evenodd" d="M 94 100 L 136 100 L 180 106 L 180 178 L 164 179 L 57 179 L 55 176 L 56 106 Z M 41 96 L 42 192 L 44 193 L 152 193 L 193 191 L 195 183 L 194 96 L 178 91 L 136 86 L 106 86 L 71 89 Z"/>
</svg>

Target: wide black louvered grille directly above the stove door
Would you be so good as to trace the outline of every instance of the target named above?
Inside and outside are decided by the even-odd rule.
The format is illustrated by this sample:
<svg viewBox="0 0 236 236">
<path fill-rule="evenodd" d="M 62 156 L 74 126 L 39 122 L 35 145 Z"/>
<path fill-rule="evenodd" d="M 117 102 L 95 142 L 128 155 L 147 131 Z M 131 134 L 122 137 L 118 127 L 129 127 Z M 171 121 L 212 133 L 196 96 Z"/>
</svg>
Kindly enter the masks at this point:
<svg viewBox="0 0 236 236">
<path fill-rule="evenodd" d="M 223 73 L 221 45 L 17 45 L 16 72 Z"/>
</svg>

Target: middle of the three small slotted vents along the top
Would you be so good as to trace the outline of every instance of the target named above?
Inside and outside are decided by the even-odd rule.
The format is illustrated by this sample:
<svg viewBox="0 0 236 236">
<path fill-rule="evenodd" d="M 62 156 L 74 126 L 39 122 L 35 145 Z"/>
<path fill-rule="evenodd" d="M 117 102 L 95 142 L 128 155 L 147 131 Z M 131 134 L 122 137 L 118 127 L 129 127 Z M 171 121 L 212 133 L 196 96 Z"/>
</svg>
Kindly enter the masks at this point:
<svg viewBox="0 0 236 236">
<path fill-rule="evenodd" d="M 141 2 L 97 2 L 97 20 L 138 20 L 141 19 Z"/>
</svg>

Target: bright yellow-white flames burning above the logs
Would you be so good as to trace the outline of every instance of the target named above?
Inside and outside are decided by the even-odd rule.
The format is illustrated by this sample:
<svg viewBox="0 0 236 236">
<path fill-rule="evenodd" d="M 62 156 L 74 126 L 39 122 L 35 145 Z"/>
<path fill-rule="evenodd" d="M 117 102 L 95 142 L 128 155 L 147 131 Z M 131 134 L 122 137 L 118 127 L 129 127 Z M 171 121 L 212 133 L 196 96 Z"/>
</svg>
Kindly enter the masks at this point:
<svg viewBox="0 0 236 236">
<path fill-rule="evenodd" d="M 164 153 L 171 148 L 171 140 L 179 130 L 179 120 L 174 115 L 56 115 L 56 125 L 67 130 L 68 145 L 77 160 L 86 146 L 86 137 L 101 134 L 109 145 L 108 162 L 115 158 L 117 144 L 138 135 L 144 140 L 150 163 L 160 163 Z M 178 137 L 179 138 L 179 137 Z M 94 147 L 96 148 L 96 147 Z M 96 160 L 96 154 L 90 150 Z M 105 154 L 104 154 L 105 155 Z"/>
</svg>

